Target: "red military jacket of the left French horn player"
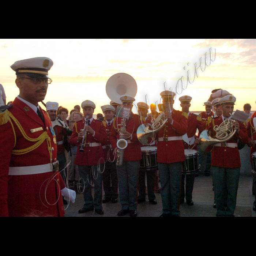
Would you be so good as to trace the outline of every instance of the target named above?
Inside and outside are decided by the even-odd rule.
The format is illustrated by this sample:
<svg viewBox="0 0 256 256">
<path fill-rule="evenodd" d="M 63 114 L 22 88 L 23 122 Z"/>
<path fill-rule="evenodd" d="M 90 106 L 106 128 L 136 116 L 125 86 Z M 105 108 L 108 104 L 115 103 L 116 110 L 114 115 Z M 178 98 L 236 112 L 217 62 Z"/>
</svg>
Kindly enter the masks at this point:
<svg viewBox="0 0 256 256">
<path fill-rule="evenodd" d="M 158 131 L 158 138 L 163 137 L 180 137 L 187 131 L 187 113 L 173 109 L 173 125 L 169 121 L 163 128 Z M 158 163 L 175 163 L 185 161 L 185 153 L 182 139 L 159 141 L 157 143 L 157 162 Z"/>
</svg>

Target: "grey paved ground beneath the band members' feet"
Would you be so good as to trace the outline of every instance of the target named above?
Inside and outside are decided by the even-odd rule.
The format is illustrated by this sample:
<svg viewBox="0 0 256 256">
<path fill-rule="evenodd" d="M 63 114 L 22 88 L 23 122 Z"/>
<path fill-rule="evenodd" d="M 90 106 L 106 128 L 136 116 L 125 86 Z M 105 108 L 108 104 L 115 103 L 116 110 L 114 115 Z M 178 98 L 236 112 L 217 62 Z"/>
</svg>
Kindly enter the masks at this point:
<svg viewBox="0 0 256 256">
<path fill-rule="evenodd" d="M 148 200 L 140 203 L 138 205 L 138 217 L 159 217 L 162 214 L 161 195 L 159 193 L 155 193 L 155 195 L 157 205 L 150 204 Z M 254 200 L 251 175 L 240 174 L 234 215 L 236 217 L 256 217 L 256 212 L 252 210 Z M 195 178 L 193 202 L 193 206 L 188 206 L 186 203 L 180 205 L 181 217 L 215 217 L 216 209 L 212 207 L 214 203 L 212 176 L 205 177 L 200 173 L 199 177 Z M 117 212 L 121 210 L 118 199 L 116 204 L 111 202 L 103 204 L 104 215 L 95 214 L 94 211 L 79 214 L 78 210 L 83 207 L 83 203 L 83 195 L 76 194 L 76 202 L 69 204 L 65 217 L 117 217 Z M 129 215 L 124 217 L 129 217 Z"/>
</svg>

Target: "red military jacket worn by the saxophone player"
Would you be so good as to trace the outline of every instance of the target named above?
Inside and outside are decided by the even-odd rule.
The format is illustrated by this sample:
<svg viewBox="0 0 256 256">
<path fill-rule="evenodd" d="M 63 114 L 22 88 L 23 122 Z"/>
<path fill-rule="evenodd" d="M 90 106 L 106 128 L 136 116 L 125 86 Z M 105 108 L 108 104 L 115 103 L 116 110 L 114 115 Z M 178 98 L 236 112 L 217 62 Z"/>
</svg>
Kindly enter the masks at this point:
<svg viewBox="0 0 256 256">
<path fill-rule="evenodd" d="M 121 119 L 122 118 L 120 117 L 115 117 L 113 121 L 114 126 L 109 137 L 113 149 L 117 147 L 116 143 L 120 138 L 117 129 L 120 129 Z M 140 116 L 133 113 L 131 113 L 130 119 L 125 122 L 126 131 L 132 134 L 132 138 L 128 139 L 131 140 L 131 143 L 128 143 L 127 147 L 124 149 L 123 161 L 138 161 L 142 159 L 142 153 L 140 149 L 141 143 L 137 138 L 137 129 L 142 123 L 144 123 L 144 121 L 142 121 Z"/>
</svg>

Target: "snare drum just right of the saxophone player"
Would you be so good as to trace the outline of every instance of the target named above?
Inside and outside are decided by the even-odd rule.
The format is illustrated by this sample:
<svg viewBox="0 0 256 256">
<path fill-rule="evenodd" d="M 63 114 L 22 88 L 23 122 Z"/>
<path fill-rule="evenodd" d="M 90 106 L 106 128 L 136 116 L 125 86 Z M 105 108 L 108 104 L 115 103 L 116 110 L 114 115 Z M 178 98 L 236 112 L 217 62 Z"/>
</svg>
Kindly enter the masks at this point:
<svg viewBox="0 0 256 256">
<path fill-rule="evenodd" d="M 141 147 L 142 159 L 140 160 L 140 170 L 155 171 L 158 170 L 157 165 L 157 147 Z"/>
</svg>

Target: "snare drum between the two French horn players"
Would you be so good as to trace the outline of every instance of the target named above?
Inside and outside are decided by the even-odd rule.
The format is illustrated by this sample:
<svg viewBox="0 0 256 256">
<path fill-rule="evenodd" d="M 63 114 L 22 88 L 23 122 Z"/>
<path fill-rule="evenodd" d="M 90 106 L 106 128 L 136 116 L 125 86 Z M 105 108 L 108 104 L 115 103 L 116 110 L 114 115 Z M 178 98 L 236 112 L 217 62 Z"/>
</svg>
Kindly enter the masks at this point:
<svg viewBox="0 0 256 256">
<path fill-rule="evenodd" d="M 185 162 L 182 162 L 182 174 L 194 174 L 199 169 L 198 151 L 194 149 L 185 149 Z"/>
</svg>

